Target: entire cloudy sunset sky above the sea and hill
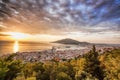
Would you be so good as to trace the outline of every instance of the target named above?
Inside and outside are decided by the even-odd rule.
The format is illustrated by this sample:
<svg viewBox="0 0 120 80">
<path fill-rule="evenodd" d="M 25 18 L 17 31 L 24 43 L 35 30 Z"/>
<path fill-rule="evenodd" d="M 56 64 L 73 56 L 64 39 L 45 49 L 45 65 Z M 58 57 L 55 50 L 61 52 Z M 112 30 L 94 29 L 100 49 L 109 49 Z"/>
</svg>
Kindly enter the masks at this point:
<svg viewBox="0 0 120 80">
<path fill-rule="evenodd" d="M 120 43 L 120 0 L 0 0 L 0 40 Z"/>
</svg>

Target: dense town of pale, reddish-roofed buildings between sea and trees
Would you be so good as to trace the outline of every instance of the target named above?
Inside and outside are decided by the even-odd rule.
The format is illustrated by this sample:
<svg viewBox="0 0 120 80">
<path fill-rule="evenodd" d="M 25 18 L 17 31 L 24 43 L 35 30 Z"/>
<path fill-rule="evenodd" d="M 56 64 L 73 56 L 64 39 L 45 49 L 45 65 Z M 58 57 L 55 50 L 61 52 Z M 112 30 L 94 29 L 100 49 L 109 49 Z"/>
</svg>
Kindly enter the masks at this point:
<svg viewBox="0 0 120 80">
<path fill-rule="evenodd" d="M 115 47 L 96 47 L 96 50 L 99 54 L 103 54 L 105 51 L 111 51 Z M 119 47 L 118 47 L 119 48 Z M 61 61 L 63 59 L 73 59 L 78 56 L 82 56 L 83 54 L 89 52 L 92 47 L 87 47 L 85 49 L 68 49 L 68 50 L 57 50 L 54 47 L 52 49 L 41 50 L 41 51 L 31 51 L 31 52 L 16 52 L 12 54 L 16 54 L 14 59 L 15 60 L 22 60 L 24 62 L 45 62 L 50 61 L 52 59 L 56 59 Z M 0 57 L 6 57 L 11 54 L 3 54 Z"/>
</svg>

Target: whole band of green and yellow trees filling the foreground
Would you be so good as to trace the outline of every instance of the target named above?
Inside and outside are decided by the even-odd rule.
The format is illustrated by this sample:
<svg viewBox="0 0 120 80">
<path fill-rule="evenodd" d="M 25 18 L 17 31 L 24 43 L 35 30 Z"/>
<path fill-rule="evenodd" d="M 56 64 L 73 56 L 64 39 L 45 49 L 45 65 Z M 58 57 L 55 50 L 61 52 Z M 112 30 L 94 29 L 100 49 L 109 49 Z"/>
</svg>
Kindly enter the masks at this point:
<svg viewBox="0 0 120 80">
<path fill-rule="evenodd" d="M 0 59 L 0 80 L 120 80 L 120 49 L 99 55 L 93 49 L 76 59 L 46 63 L 14 60 L 15 55 Z M 17 80 L 19 78 L 16 78 Z"/>
</svg>

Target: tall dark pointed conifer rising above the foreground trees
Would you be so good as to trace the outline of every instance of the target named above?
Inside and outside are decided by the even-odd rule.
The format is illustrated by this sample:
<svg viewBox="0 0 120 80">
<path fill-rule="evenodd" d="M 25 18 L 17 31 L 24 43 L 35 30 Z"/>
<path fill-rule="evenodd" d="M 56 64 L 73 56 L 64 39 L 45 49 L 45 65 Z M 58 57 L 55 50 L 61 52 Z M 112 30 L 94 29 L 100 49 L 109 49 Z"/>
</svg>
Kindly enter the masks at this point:
<svg viewBox="0 0 120 80">
<path fill-rule="evenodd" d="M 92 50 L 85 54 L 86 64 L 84 67 L 84 71 L 91 74 L 92 77 L 95 77 L 99 80 L 103 80 L 104 73 L 102 68 L 100 67 L 100 61 L 98 59 L 98 52 L 96 51 L 95 45 L 93 45 Z"/>
</svg>

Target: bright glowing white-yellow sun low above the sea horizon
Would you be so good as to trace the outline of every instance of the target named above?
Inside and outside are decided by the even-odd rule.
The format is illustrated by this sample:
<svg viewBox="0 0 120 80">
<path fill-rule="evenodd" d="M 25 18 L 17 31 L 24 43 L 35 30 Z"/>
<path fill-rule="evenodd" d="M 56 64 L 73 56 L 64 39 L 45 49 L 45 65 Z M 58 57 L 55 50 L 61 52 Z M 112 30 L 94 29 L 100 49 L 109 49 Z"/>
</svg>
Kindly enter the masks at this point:
<svg viewBox="0 0 120 80">
<path fill-rule="evenodd" d="M 8 34 L 15 40 L 25 39 L 28 35 L 20 32 L 8 32 Z"/>
</svg>

